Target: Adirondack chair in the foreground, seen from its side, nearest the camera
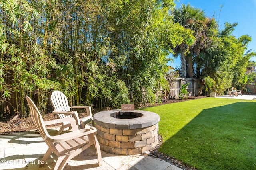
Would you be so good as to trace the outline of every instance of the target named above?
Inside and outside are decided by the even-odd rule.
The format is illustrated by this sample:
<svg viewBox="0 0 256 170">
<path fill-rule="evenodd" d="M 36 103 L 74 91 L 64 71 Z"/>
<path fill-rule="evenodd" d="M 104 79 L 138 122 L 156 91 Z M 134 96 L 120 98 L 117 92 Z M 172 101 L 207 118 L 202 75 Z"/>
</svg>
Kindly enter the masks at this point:
<svg viewBox="0 0 256 170">
<path fill-rule="evenodd" d="M 98 158 L 98 165 L 102 165 L 102 158 L 100 152 L 100 145 L 96 138 L 96 128 L 86 125 L 84 129 L 78 129 L 75 119 L 67 117 L 63 119 L 56 119 L 51 121 L 43 121 L 42 115 L 34 102 L 27 96 L 28 106 L 30 108 L 31 117 L 36 125 L 36 129 L 48 145 L 48 150 L 44 154 L 41 162 L 46 162 L 49 156 L 54 152 L 58 156 L 58 160 L 54 166 L 54 170 L 62 170 L 69 160 L 83 152 L 91 145 L 95 145 L 96 154 Z M 46 125 L 62 123 L 63 121 L 70 122 L 72 132 L 61 135 L 51 136 L 46 130 Z M 40 167 L 44 164 L 40 164 Z"/>
</svg>

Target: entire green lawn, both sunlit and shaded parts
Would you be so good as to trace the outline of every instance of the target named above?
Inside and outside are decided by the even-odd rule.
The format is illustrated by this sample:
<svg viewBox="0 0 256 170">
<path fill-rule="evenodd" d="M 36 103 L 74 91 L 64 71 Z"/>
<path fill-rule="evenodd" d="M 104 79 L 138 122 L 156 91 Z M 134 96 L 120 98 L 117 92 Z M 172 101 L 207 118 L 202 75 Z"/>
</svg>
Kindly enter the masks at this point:
<svg viewBox="0 0 256 170">
<path fill-rule="evenodd" d="M 256 169 L 256 101 L 202 98 L 149 107 L 159 151 L 199 170 Z"/>
</svg>

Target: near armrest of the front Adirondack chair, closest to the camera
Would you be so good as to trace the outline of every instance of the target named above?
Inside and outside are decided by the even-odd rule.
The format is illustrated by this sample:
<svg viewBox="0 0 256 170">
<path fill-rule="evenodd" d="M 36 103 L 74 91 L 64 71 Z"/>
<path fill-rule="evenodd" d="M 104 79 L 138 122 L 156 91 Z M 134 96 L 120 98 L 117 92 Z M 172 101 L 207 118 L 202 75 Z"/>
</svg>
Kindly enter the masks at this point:
<svg viewBox="0 0 256 170">
<path fill-rule="evenodd" d="M 85 135 L 89 135 L 91 133 L 95 133 L 96 131 L 97 131 L 97 129 L 95 127 L 86 127 L 84 129 L 80 129 L 76 132 L 72 131 L 69 133 L 64 133 L 64 134 L 60 134 L 60 135 L 56 135 L 56 136 L 46 135 L 44 140 L 50 141 L 53 143 L 68 141 L 70 139 L 74 139 L 74 138 L 82 137 Z"/>
</svg>

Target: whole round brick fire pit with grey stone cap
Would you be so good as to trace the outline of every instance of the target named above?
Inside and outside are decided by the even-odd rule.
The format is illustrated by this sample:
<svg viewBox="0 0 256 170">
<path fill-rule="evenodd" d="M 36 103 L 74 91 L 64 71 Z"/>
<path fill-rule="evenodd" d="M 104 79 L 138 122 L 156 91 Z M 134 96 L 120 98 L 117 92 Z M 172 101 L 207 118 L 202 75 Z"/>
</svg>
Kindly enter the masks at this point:
<svg viewBox="0 0 256 170">
<path fill-rule="evenodd" d="M 94 122 L 100 148 L 112 154 L 141 154 L 158 143 L 159 115 L 142 110 L 96 113 Z"/>
</svg>

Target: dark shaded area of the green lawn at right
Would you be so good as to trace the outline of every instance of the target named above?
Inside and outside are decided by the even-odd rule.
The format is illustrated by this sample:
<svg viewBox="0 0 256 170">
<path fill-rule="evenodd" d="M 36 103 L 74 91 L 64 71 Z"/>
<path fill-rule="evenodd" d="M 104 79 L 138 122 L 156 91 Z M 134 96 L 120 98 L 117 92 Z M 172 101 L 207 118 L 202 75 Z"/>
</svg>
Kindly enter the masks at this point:
<svg viewBox="0 0 256 170">
<path fill-rule="evenodd" d="M 161 152 L 197 169 L 256 169 L 256 103 L 204 109 Z"/>
</svg>

